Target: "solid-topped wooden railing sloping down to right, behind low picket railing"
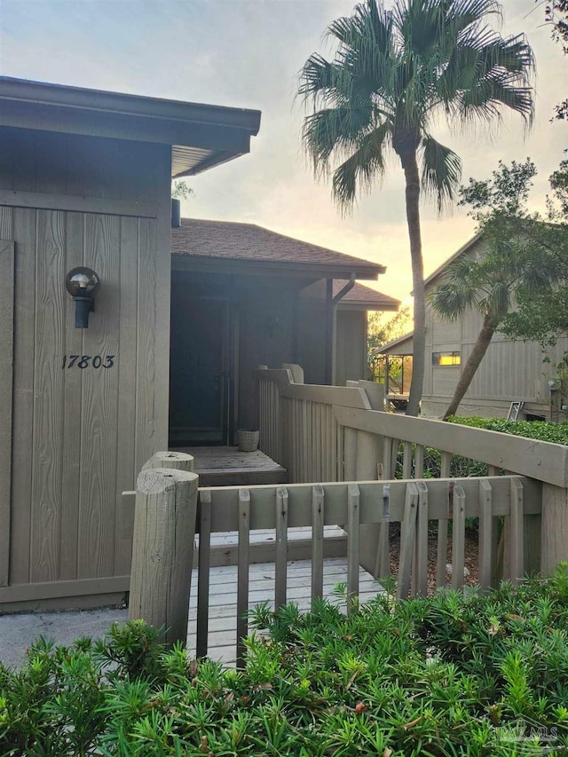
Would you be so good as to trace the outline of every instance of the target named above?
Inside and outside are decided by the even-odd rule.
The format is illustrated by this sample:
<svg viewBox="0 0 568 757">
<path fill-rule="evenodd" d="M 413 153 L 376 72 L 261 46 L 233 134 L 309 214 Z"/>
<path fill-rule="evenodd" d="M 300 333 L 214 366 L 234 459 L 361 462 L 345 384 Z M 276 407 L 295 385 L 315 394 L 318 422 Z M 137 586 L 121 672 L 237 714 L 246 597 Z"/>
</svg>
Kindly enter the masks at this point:
<svg viewBox="0 0 568 757">
<path fill-rule="evenodd" d="M 266 372 L 266 380 L 270 380 L 271 373 Z M 540 530 L 539 525 L 534 524 L 525 540 L 529 536 L 535 543 L 540 540 L 540 564 L 546 572 L 559 561 L 568 559 L 567 446 L 372 410 L 369 408 L 372 394 L 366 383 L 359 382 L 358 387 L 344 389 L 277 385 L 279 462 L 288 467 L 291 482 L 393 478 L 400 444 L 404 449 L 403 479 L 423 476 L 426 447 L 440 451 L 441 477 L 450 476 L 452 456 L 461 455 L 485 462 L 490 476 L 508 471 L 539 482 L 542 527 Z M 314 403 L 317 404 L 315 413 Z M 261 428 L 271 413 L 272 408 L 265 406 L 260 418 Z M 438 574 L 446 564 L 447 533 L 447 522 L 442 519 L 438 529 Z M 509 520 L 506 520 L 505 559 L 509 559 L 510 548 Z M 384 573 L 387 554 L 387 529 L 381 525 L 366 529 L 361 556 L 367 570 L 375 576 Z"/>
</svg>

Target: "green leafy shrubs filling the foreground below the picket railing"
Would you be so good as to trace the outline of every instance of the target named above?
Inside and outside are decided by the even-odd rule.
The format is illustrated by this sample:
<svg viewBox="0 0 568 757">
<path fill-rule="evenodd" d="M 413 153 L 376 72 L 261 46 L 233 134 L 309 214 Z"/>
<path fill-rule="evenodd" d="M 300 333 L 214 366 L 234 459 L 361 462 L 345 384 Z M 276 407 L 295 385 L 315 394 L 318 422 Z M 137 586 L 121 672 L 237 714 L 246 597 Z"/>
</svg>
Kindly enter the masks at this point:
<svg viewBox="0 0 568 757">
<path fill-rule="evenodd" d="M 511 757 L 568 753 L 568 578 L 489 595 L 251 613 L 246 667 L 141 621 L 0 666 L 0 753 Z"/>
</svg>

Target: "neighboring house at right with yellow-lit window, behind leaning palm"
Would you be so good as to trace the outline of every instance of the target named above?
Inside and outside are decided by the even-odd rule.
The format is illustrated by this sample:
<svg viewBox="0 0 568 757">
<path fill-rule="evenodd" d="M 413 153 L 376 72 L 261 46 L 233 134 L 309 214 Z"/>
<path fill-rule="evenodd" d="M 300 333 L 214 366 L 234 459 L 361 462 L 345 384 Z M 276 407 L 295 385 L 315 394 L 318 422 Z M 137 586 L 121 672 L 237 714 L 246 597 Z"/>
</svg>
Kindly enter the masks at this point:
<svg viewBox="0 0 568 757">
<path fill-rule="evenodd" d="M 426 290 L 438 285 L 446 266 L 461 255 L 483 256 L 483 238 L 479 235 L 467 242 L 446 263 L 426 279 Z M 440 319 L 430 307 L 426 316 L 426 367 L 422 394 L 422 414 L 440 417 L 454 395 L 461 367 L 477 339 L 482 316 L 470 311 L 462 319 L 451 322 Z M 555 366 L 568 350 L 568 338 L 558 340 L 549 348 L 550 363 L 535 342 L 513 342 L 502 334 L 493 336 L 481 365 L 459 407 L 461 415 L 507 417 L 511 403 L 523 402 L 519 418 L 538 416 L 547 420 L 564 420 L 562 398 L 556 390 Z M 386 356 L 412 355 L 412 334 L 385 345 Z"/>
</svg>

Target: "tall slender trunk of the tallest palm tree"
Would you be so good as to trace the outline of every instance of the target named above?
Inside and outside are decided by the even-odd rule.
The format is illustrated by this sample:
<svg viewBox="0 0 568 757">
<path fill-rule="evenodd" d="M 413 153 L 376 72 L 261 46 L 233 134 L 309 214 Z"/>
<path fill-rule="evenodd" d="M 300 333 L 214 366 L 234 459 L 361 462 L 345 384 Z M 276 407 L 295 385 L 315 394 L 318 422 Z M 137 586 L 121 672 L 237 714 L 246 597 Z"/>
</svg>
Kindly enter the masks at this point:
<svg viewBox="0 0 568 757">
<path fill-rule="evenodd" d="M 412 379 L 406 415 L 418 415 L 424 382 L 426 341 L 426 303 L 424 296 L 424 266 L 422 264 L 422 237 L 420 233 L 420 177 L 416 150 L 400 156 L 406 178 L 406 223 L 410 239 L 412 284 L 414 295 L 414 339 Z"/>
</svg>

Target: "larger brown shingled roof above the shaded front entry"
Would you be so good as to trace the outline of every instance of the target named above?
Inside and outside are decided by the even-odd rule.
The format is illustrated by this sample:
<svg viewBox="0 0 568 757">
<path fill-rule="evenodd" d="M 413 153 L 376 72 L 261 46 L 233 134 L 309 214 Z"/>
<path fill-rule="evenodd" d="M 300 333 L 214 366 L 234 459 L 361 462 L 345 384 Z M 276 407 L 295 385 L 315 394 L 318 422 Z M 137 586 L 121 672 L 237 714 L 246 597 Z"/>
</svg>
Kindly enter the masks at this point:
<svg viewBox="0 0 568 757">
<path fill-rule="evenodd" d="M 256 264 L 265 272 L 283 270 L 290 275 L 313 275 L 317 278 L 376 279 L 386 269 L 383 265 L 343 255 L 284 236 L 255 224 L 233 221 L 201 221 L 182 218 L 181 226 L 171 230 L 171 252 L 187 256 L 192 267 L 219 270 L 219 262 L 233 265 Z M 224 271 L 227 267 L 224 265 Z M 244 271 L 244 266 L 243 266 Z"/>
</svg>

